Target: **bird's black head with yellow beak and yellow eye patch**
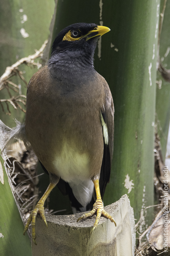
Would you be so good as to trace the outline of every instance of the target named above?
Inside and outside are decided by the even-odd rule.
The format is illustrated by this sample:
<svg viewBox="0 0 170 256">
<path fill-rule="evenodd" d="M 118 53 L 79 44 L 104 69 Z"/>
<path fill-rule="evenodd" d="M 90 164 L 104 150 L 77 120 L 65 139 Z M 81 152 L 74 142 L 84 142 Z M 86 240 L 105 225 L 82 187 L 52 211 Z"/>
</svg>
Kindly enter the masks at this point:
<svg viewBox="0 0 170 256">
<path fill-rule="evenodd" d="M 98 26 L 94 23 L 72 24 L 61 30 L 55 38 L 51 55 L 69 50 L 72 53 L 80 52 L 82 55 L 93 56 L 97 39 L 109 30 L 108 27 Z"/>
</svg>

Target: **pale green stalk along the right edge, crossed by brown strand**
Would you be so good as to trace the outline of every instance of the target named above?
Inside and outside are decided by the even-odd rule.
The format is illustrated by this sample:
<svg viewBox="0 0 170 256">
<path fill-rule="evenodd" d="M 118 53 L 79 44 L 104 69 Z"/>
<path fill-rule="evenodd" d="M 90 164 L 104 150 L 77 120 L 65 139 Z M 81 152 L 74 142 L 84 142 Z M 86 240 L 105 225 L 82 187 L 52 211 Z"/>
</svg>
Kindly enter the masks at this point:
<svg viewBox="0 0 170 256">
<path fill-rule="evenodd" d="M 160 11 L 162 11 L 164 0 L 161 0 Z M 166 8 L 163 18 L 162 30 L 160 35 L 160 47 L 159 54 L 160 60 L 166 69 L 170 69 L 170 2 L 166 2 Z M 166 144 L 168 137 L 169 121 L 170 121 L 170 79 L 169 81 L 164 80 L 158 71 L 157 80 L 157 97 L 156 97 L 156 122 L 158 123 L 158 134 L 160 137 L 160 143 L 162 147 L 162 156 L 165 160 Z"/>
</svg>

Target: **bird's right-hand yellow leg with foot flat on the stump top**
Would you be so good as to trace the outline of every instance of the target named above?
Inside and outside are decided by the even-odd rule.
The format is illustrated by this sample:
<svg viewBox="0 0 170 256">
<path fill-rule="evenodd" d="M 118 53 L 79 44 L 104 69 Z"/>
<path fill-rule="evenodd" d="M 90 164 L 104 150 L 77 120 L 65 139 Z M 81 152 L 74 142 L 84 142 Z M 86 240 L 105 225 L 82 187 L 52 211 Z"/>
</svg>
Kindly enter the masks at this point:
<svg viewBox="0 0 170 256">
<path fill-rule="evenodd" d="M 116 222 L 114 221 L 113 217 L 110 216 L 109 213 L 107 213 L 104 210 L 104 208 L 103 208 L 103 202 L 102 202 L 102 198 L 101 198 L 101 195 L 100 195 L 99 180 L 98 179 L 93 180 L 93 183 L 94 183 L 94 187 L 95 187 L 95 190 L 96 190 L 96 196 L 97 196 L 96 203 L 93 205 L 93 209 L 91 211 L 89 211 L 88 213 L 83 214 L 77 220 L 77 222 L 78 222 L 81 219 L 85 219 L 87 217 L 90 217 L 90 216 L 94 215 L 94 213 L 97 211 L 97 216 L 96 216 L 96 219 L 95 219 L 95 223 L 94 223 L 93 229 L 91 231 L 91 235 L 92 235 L 93 231 L 96 229 L 96 227 L 97 227 L 97 225 L 99 223 L 101 215 L 103 215 L 103 216 L 107 217 L 108 219 L 110 219 L 111 222 L 114 222 L 114 224 L 116 226 Z"/>
</svg>

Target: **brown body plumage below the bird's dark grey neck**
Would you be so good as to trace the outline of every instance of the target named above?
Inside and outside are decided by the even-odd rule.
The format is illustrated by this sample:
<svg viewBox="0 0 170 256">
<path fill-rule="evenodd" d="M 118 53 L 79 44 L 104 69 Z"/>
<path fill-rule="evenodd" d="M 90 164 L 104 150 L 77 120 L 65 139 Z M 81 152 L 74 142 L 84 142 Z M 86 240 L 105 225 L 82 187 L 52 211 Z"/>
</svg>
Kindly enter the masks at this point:
<svg viewBox="0 0 170 256">
<path fill-rule="evenodd" d="M 91 179 L 100 174 L 103 159 L 100 111 L 106 113 L 104 109 L 108 108 L 111 115 L 113 105 L 112 100 L 108 99 L 106 106 L 106 99 L 111 96 L 108 84 L 97 72 L 95 74 L 93 80 L 76 87 L 71 95 L 62 95 L 62 82 L 50 76 L 48 66 L 40 69 L 28 85 L 25 119 L 27 139 L 47 171 L 67 182 L 76 177 L 64 178 L 64 170 L 58 170 L 55 163 L 62 155 L 64 145 L 73 157 L 74 154 L 80 157 L 86 155 L 88 171 L 85 178 Z M 110 123 L 111 134 L 112 125 L 113 122 Z M 75 166 L 67 168 L 74 169 Z M 82 174 L 80 178 L 83 178 Z"/>
</svg>

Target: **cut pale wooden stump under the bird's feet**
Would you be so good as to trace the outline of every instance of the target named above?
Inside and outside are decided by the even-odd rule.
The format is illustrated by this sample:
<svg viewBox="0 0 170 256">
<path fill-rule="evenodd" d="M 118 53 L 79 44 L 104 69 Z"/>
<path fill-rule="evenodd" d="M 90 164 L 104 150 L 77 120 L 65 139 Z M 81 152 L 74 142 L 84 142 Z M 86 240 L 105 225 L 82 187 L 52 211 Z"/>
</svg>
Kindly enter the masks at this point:
<svg viewBox="0 0 170 256">
<path fill-rule="evenodd" d="M 127 195 L 105 207 L 117 226 L 101 217 L 90 236 L 96 215 L 77 223 L 82 213 L 46 215 L 48 228 L 38 216 L 33 256 L 133 256 L 135 248 L 134 212 Z"/>
</svg>

